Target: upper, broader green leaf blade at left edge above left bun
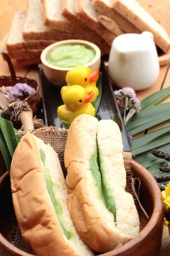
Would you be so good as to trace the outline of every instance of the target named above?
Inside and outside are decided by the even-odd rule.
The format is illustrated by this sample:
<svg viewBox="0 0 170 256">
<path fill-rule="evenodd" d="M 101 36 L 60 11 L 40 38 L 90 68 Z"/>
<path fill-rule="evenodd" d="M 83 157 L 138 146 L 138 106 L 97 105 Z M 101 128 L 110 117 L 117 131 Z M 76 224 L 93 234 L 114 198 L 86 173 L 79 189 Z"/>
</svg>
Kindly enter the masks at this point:
<svg viewBox="0 0 170 256">
<path fill-rule="evenodd" d="M 3 132 L 3 137 L 8 146 L 8 151 L 13 157 L 14 151 L 18 145 L 19 137 L 16 136 L 12 122 L 0 117 L 0 128 Z M 17 130 L 16 130 L 17 131 Z"/>
</svg>

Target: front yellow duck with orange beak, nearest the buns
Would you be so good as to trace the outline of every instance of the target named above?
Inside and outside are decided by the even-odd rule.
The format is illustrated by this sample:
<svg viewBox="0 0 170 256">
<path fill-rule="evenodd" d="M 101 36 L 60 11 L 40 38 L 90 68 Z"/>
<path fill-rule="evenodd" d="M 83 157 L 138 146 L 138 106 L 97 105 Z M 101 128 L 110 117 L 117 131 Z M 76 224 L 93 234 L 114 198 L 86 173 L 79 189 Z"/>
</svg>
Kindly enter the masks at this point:
<svg viewBox="0 0 170 256">
<path fill-rule="evenodd" d="M 62 93 L 64 105 L 57 108 L 57 115 L 62 122 L 71 123 L 81 115 L 94 116 L 95 108 L 90 102 L 94 100 L 94 92 L 88 92 L 79 85 L 67 86 Z"/>
</svg>

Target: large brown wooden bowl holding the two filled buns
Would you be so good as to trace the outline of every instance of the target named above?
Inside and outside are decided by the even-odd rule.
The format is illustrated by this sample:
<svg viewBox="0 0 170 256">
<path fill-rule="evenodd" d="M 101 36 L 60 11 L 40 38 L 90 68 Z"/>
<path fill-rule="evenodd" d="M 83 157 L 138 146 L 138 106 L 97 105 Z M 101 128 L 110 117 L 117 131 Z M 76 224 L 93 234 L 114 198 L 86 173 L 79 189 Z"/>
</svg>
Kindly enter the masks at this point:
<svg viewBox="0 0 170 256">
<path fill-rule="evenodd" d="M 134 175 L 141 180 L 140 201 L 149 219 L 139 210 L 141 223 L 139 235 L 122 247 L 103 253 L 103 256 L 157 256 L 159 254 L 163 230 L 161 191 L 154 177 L 139 163 L 133 161 L 132 170 Z M 7 172 L 0 178 L 0 205 L 0 245 L 13 255 L 31 256 L 14 247 L 7 240 L 12 229 L 10 212 L 13 211 L 10 178 Z"/>
</svg>

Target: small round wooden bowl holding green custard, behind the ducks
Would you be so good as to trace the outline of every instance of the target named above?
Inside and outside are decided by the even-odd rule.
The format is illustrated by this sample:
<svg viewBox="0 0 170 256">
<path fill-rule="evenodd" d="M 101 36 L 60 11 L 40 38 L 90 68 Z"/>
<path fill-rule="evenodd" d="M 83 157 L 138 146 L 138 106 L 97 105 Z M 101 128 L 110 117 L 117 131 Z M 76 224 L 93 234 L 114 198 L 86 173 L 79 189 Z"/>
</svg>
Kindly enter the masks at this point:
<svg viewBox="0 0 170 256">
<path fill-rule="evenodd" d="M 45 76 L 48 78 L 48 80 L 52 84 L 56 85 L 57 87 L 62 87 L 63 85 L 66 85 L 66 81 L 65 81 L 66 74 L 72 68 L 56 67 L 48 63 L 46 58 L 48 53 L 51 52 L 52 49 L 54 49 L 55 47 L 63 46 L 67 44 L 81 44 L 87 48 L 93 49 L 96 52 L 95 58 L 84 66 L 89 67 L 91 70 L 96 70 L 100 68 L 100 62 L 101 62 L 100 49 L 99 47 L 97 47 L 95 44 L 91 42 L 73 39 L 73 40 L 59 41 L 57 43 L 51 44 L 50 46 L 48 46 L 42 51 L 41 62 L 42 62 L 42 67 L 43 67 Z"/>
</svg>

